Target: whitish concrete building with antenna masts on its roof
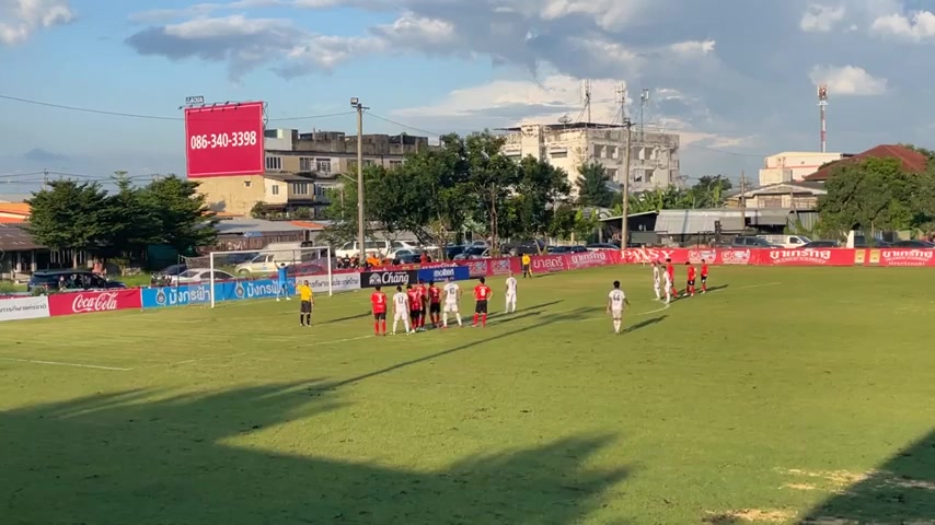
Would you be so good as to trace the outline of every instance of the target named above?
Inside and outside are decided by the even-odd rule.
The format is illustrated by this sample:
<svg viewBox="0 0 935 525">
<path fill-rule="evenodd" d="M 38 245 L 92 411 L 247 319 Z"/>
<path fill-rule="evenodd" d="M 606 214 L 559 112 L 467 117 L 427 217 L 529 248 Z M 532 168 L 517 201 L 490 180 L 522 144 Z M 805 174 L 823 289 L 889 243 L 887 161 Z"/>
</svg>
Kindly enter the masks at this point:
<svg viewBox="0 0 935 525">
<path fill-rule="evenodd" d="M 531 124 L 506 128 L 504 154 L 517 161 L 532 155 L 565 170 L 577 191 L 578 166 L 603 164 L 616 184 L 626 170 L 626 129 L 603 124 Z M 679 179 L 679 136 L 631 131 L 630 190 L 663 188 Z"/>
</svg>

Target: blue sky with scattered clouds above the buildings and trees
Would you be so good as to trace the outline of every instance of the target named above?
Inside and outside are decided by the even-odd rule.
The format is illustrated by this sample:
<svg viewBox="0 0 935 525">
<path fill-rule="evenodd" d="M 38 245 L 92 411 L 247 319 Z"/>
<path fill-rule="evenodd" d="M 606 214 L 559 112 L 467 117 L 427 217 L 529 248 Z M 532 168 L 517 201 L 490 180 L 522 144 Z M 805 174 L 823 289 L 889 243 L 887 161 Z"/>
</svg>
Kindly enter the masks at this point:
<svg viewBox="0 0 935 525">
<path fill-rule="evenodd" d="M 926 9 L 928 11 L 926 11 Z M 614 89 L 651 92 L 645 120 L 682 136 L 690 176 L 818 148 L 935 147 L 935 14 L 922 0 L 0 0 L 0 194 L 34 175 L 183 173 L 187 95 L 262 100 L 270 127 L 466 132 L 578 116 Z M 631 105 L 632 116 L 638 115 Z M 41 178 L 41 177 L 39 177 Z M 21 182 L 22 184 L 13 184 Z"/>
</svg>

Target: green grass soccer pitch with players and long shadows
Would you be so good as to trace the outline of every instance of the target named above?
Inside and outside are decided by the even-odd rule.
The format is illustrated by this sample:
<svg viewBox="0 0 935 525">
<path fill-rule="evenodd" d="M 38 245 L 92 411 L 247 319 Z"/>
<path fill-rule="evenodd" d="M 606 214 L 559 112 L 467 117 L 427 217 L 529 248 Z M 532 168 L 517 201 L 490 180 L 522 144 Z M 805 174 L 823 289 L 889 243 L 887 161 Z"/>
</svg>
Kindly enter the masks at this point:
<svg viewBox="0 0 935 525">
<path fill-rule="evenodd" d="M 296 301 L 4 323 L 0 523 L 935 523 L 931 282 L 713 268 L 663 308 L 617 267 L 379 339 L 365 293 L 307 329 Z"/>
</svg>

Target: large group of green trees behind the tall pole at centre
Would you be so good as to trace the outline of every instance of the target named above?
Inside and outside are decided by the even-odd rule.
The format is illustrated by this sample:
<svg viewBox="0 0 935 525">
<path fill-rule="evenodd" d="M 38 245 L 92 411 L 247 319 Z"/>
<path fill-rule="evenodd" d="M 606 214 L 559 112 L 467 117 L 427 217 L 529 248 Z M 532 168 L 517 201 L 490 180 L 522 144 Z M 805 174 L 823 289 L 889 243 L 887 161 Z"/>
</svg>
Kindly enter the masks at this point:
<svg viewBox="0 0 935 525">
<path fill-rule="evenodd" d="M 412 154 L 400 166 L 367 168 L 367 235 L 371 228 L 409 231 L 424 243 L 448 244 L 473 231 L 497 246 L 500 237 L 543 235 L 564 224 L 553 219 L 570 191 L 565 173 L 532 159 L 517 164 L 501 147 L 503 138 L 489 132 L 448 135 L 440 148 Z M 326 237 L 356 238 L 357 185 L 345 184 L 343 203 L 334 196 L 331 201 L 327 214 L 335 223 Z"/>
</svg>

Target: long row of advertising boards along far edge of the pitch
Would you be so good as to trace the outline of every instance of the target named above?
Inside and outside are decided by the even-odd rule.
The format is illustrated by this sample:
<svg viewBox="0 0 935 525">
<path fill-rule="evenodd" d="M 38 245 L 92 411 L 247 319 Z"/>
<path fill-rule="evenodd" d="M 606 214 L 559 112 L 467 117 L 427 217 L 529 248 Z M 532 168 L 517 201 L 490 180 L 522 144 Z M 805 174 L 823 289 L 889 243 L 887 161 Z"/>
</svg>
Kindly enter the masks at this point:
<svg viewBox="0 0 935 525">
<path fill-rule="evenodd" d="M 935 267 L 935 249 L 692 249 L 692 248 L 627 248 L 621 252 L 603 250 L 581 254 L 533 256 L 533 273 L 552 273 L 581 270 L 620 264 L 648 264 L 671 259 L 676 265 L 699 264 L 743 266 L 868 266 L 868 267 Z M 409 282 L 448 279 L 464 281 L 478 277 L 520 273 L 519 257 L 429 262 L 380 268 L 379 271 L 336 271 L 331 277 L 334 292 L 372 289 L 377 285 L 396 287 Z M 326 273 L 296 276 L 289 279 L 295 291 L 296 281 L 309 281 L 315 293 L 328 291 Z M 14 296 L 0 299 L 0 322 L 58 317 L 65 315 L 115 312 L 120 310 L 148 310 L 210 303 L 210 284 L 189 284 L 165 288 L 137 288 L 127 290 L 55 293 L 42 296 Z M 279 295 L 276 279 L 236 280 L 216 282 L 215 301 L 244 301 L 273 299 Z"/>
</svg>

